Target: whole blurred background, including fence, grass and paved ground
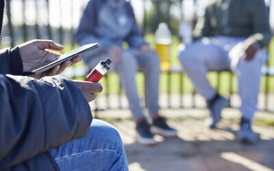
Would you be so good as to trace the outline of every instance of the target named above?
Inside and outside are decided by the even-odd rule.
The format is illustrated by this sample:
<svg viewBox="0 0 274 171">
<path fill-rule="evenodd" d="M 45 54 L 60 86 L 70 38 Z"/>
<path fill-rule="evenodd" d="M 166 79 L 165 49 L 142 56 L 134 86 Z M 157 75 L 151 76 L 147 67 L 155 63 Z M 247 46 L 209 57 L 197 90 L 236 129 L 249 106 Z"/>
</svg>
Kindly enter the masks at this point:
<svg viewBox="0 0 274 171">
<path fill-rule="evenodd" d="M 75 31 L 88 0 L 6 0 L 5 25 L 1 48 L 14 47 L 34 38 L 51 39 L 63 44 L 62 53 L 71 51 L 75 43 Z M 119 76 L 108 73 L 100 83 L 103 92 L 90 105 L 92 114 L 111 122 L 119 130 L 125 144 L 129 170 L 272 170 L 274 169 L 274 39 L 269 45 L 269 61 L 262 68 L 258 113 L 254 129 L 261 134 L 256 146 L 236 142 L 235 133 L 240 113 L 233 109 L 240 106 L 236 76 L 225 70 L 210 72 L 210 83 L 220 94 L 230 99 L 230 107 L 222 113 L 220 129 L 207 129 L 203 119 L 208 116 L 206 102 L 195 92 L 177 59 L 182 44 L 179 36 L 190 36 L 197 18 L 203 15 L 208 0 L 131 0 L 138 25 L 145 40 L 157 50 L 155 32 L 160 23 L 166 23 L 171 31 L 168 45 L 168 68 L 160 75 L 160 106 L 162 114 L 178 131 L 175 139 L 144 147 L 135 142 L 135 124 L 128 109 L 127 98 L 121 89 Z M 274 1 L 266 0 L 270 24 L 274 29 Z M 123 46 L 126 48 L 127 44 Z M 159 49 L 158 49 L 159 50 Z M 158 53 L 161 53 L 158 51 Z M 83 80 L 88 71 L 83 62 L 62 73 L 71 79 Z M 138 92 L 145 105 L 145 76 L 136 75 Z M 111 109 L 111 110 L 109 110 Z M 107 114 L 107 115 L 105 115 Z M 119 118 L 118 120 L 115 117 Z M 114 119 L 113 119 L 114 118 Z M 121 118 L 127 118 L 127 120 Z"/>
</svg>

